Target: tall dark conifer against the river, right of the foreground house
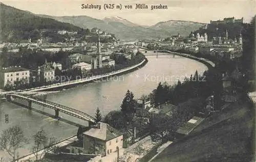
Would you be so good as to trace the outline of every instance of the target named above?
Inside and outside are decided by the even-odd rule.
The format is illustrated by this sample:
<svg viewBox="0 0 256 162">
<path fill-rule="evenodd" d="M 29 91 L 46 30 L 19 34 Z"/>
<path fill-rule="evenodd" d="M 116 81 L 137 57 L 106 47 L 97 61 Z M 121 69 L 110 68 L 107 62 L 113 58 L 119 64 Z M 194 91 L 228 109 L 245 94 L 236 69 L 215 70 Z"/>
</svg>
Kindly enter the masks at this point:
<svg viewBox="0 0 256 162">
<path fill-rule="evenodd" d="M 130 92 L 129 90 L 127 90 L 121 104 L 121 112 L 124 118 L 124 125 L 126 125 L 127 122 L 132 121 L 134 114 L 136 112 L 135 105 L 136 105 L 136 101 L 134 99 L 133 92 Z"/>
</svg>

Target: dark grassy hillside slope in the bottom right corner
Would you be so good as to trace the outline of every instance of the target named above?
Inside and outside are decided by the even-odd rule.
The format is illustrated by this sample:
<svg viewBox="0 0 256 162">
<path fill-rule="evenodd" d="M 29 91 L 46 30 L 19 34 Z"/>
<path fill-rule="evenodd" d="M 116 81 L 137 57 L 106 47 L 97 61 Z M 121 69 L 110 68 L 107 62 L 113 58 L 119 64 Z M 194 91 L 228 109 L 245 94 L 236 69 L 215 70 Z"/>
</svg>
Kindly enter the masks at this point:
<svg viewBox="0 0 256 162">
<path fill-rule="evenodd" d="M 253 161 L 254 114 L 253 107 L 231 104 L 226 112 L 207 118 L 153 161 Z"/>
</svg>

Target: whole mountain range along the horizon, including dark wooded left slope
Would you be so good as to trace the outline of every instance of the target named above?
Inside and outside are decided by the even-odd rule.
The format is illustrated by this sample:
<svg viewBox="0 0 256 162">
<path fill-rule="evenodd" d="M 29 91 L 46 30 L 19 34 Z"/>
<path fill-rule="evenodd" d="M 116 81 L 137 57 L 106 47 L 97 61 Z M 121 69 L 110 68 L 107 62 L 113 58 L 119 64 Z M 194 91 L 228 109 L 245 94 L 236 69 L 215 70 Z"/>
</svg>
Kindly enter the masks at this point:
<svg viewBox="0 0 256 162">
<path fill-rule="evenodd" d="M 33 22 L 36 22 L 36 25 L 34 25 Z M 39 25 L 38 22 L 43 23 Z M 63 26 L 59 26 L 61 25 L 60 22 L 63 22 Z M 199 22 L 169 20 L 158 22 L 152 26 L 143 26 L 118 16 L 105 17 L 101 20 L 89 16 L 36 15 L 28 11 L 4 5 L 3 3 L 1 3 L 1 23 L 4 24 L 1 25 L 1 34 L 3 37 L 14 36 L 13 30 L 16 31 L 16 33 L 22 32 L 23 29 L 18 29 L 17 26 L 23 24 L 25 25 L 24 27 L 29 25 L 26 27 L 25 32 L 32 30 L 30 28 L 38 29 L 39 27 L 40 29 L 44 28 L 44 26 L 46 28 L 60 28 L 61 30 L 70 28 L 72 28 L 72 30 L 75 28 L 92 29 L 96 27 L 102 31 L 115 34 L 121 41 L 163 38 L 177 35 L 178 33 L 180 33 L 181 36 L 187 36 L 191 31 L 198 30 L 201 26 L 205 25 Z M 51 23 L 52 25 L 50 25 Z"/>
</svg>

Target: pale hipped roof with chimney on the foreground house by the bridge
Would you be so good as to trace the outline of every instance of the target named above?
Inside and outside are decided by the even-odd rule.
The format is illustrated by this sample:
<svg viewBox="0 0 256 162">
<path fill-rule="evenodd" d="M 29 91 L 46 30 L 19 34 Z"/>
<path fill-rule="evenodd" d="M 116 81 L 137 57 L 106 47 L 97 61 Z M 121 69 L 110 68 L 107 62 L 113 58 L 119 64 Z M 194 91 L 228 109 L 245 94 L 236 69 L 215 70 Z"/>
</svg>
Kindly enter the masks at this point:
<svg viewBox="0 0 256 162">
<path fill-rule="evenodd" d="M 109 124 L 103 122 L 99 122 L 98 124 L 100 124 L 100 127 L 93 127 L 88 131 L 83 132 L 83 134 L 103 141 L 109 141 L 122 135 L 120 131 L 111 127 Z"/>
</svg>

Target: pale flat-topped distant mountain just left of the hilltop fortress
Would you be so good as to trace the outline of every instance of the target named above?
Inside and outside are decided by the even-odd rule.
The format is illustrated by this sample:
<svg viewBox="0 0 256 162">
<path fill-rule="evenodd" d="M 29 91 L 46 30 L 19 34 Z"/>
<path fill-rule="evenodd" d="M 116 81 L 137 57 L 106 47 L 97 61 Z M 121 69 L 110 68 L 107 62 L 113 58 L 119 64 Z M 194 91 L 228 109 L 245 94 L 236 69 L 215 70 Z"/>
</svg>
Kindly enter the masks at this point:
<svg viewBox="0 0 256 162">
<path fill-rule="evenodd" d="M 164 22 L 158 22 L 157 24 L 150 26 L 150 29 L 167 31 L 175 34 L 180 33 L 182 36 L 187 36 L 190 32 L 194 32 L 204 25 L 206 25 L 206 23 L 169 20 Z"/>
</svg>

